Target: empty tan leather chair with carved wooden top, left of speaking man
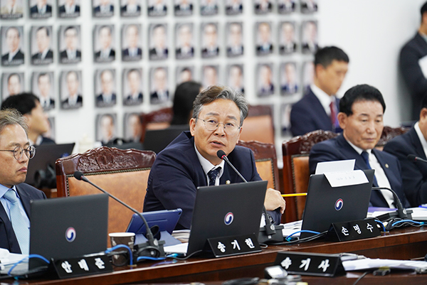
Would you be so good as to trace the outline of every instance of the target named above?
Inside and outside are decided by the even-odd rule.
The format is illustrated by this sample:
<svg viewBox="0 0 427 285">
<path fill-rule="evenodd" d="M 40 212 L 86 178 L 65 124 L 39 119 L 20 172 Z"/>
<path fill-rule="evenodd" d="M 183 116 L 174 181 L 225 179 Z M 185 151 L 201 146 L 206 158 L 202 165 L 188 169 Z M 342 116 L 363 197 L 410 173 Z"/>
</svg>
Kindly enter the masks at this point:
<svg viewBox="0 0 427 285">
<path fill-rule="evenodd" d="M 56 161 L 58 197 L 101 193 L 93 185 L 74 178 L 73 173 L 81 171 L 91 182 L 142 212 L 148 175 L 155 158 L 153 151 L 107 146 L 59 158 Z M 125 232 L 132 214 L 131 210 L 110 199 L 108 232 Z"/>
</svg>

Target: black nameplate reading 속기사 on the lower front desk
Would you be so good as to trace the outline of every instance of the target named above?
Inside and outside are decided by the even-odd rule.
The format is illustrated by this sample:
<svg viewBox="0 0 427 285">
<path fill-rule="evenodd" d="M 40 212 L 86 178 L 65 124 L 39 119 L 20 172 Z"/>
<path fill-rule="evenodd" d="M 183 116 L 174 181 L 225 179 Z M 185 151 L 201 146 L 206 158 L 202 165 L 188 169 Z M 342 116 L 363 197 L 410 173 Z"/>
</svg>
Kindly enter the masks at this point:
<svg viewBox="0 0 427 285">
<path fill-rule="evenodd" d="M 340 276 L 345 274 L 341 258 L 335 254 L 310 252 L 278 252 L 274 262 L 290 274 Z"/>
</svg>

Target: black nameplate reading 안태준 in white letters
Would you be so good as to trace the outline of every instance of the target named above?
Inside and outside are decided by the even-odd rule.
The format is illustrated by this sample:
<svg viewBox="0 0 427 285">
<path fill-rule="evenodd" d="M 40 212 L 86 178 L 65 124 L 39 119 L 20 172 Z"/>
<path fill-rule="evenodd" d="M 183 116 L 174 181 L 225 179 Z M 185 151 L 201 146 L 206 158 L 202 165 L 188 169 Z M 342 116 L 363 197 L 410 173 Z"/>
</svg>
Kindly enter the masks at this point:
<svg viewBox="0 0 427 285">
<path fill-rule="evenodd" d="M 60 279 L 112 272 L 110 257 L 103 253 L 52 259 L 52 263 Z"/>
</svg>

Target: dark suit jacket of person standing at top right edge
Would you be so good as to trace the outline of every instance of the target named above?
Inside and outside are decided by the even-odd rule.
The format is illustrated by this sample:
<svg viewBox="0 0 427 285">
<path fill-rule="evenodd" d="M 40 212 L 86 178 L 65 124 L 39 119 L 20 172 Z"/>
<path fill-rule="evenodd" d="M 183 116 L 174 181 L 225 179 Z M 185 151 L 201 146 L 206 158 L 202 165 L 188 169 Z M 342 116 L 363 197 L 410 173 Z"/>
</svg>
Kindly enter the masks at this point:
<svg viewBox="0 0 427 285">
<path fill-rule="evenodd" d="M 412 114 L 414 121 L 419 119 L 421 101 L 427 95 L 427 78 L 424 77 L 418 60 L 427 55 L 427 43 L 417 32 L 401 49 L 399 68 L 404 77 L 408 91 L 411 94 Z"/>
</svg>

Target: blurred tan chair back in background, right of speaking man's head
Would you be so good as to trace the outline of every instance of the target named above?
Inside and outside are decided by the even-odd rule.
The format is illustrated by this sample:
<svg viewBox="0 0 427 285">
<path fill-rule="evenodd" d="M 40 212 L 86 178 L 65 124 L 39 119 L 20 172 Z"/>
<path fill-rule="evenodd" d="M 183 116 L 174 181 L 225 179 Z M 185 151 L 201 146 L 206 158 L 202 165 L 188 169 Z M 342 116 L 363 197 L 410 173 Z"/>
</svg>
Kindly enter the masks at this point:
<svg viewBox="0 0 427 285">
<path fill-rule="evenodd" d="M 240 139 L 274 144 L 273 107 L 270 105 L 251 105 L 248 117 L 243 122 Z"/>
</svg>

